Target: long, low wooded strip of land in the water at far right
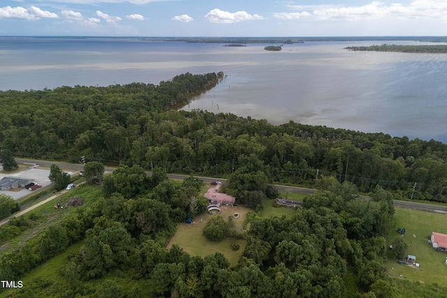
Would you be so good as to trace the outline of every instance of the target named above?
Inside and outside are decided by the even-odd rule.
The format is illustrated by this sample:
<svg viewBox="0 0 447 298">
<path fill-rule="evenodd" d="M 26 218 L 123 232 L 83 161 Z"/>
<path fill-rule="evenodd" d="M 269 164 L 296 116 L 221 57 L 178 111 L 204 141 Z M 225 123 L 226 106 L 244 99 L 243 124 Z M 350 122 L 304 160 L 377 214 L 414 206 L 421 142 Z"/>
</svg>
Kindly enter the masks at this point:
<svg viewBox="0 0 447 298">
<path fill-rule="evenodd" d="M 447 45 L 371 45 L 369 47 L 345 47 L 349 51 L 401 52 L 401 53 L 447 53 Z"/>
</svg>

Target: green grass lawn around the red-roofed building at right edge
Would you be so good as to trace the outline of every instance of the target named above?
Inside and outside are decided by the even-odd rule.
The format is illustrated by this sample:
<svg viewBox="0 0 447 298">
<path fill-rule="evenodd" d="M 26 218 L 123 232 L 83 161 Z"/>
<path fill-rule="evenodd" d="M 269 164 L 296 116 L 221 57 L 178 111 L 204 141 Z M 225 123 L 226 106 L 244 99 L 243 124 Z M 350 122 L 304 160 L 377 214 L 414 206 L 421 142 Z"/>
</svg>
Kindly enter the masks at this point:
<svg viewBox="0 0 447 298">
<path fill-rule="evenodd" d="M 388 251 L 388 274 L 396 278 L 400 278 L 402 274 L 404 278 L 413 281 L 447 286 L 447 253 L 435 251 L 427 244 L 432 232 L 447 234 L 447 215 L 397 208 L 394 221 L 395 227 L 390 231 L 388 245 L 392 244 L 396 237 L 402 237 L 397 228 L 405 228 L 404 241 L 409 245 L 407 254 L 416 256 L 420 267 L 400 265 L 393 258 L 393 253 Z"/>
</svg>

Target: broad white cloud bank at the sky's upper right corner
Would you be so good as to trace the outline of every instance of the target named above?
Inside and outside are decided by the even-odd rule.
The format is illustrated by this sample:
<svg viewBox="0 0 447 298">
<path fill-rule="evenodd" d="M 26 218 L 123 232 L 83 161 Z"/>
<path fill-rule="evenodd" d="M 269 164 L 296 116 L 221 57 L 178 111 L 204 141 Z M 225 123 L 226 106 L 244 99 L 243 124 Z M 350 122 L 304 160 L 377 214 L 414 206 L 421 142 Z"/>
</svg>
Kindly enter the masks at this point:
<svg viewBox="0 0 447 298">
<path fill-rule="evenodd" d="M 362 6 L 288 5 L 287 7 L 291 10 L 299 10 L 301 14 L 311 11 L 316 20 L 377 20 L 383 17 L 413 20 L 420 18 L 444 19 L 447 16 L 447 1 L 439 0 L 415 0 L 408 4 L 392 3 L 389 6 L 383 2 L 372 1 Z M 302 16 L 299 15 L 299 17 Z M 293 14 L 275 13 L 274 17 L 293 18 Z"/>
</svg>

